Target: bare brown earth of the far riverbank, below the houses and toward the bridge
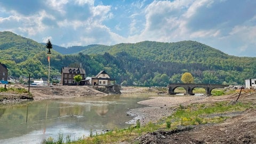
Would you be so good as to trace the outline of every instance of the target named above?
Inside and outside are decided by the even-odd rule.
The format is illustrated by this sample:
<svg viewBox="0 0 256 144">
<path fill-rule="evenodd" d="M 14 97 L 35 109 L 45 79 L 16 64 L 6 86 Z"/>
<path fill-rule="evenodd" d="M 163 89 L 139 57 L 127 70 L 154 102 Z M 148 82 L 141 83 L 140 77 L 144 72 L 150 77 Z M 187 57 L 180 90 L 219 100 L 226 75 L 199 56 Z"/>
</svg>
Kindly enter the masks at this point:
<svg viewBox="0 0 256 144">
<path fill-rule="evenodd" d="M 28 91 L 27 85 L 22 84 L 0 84 L 0 88 L 23 89 Z M 122 87 L 121 93 L 157 93 L 156 89 L 150 87 Z M 30 86 L 29 93 L 0 92 L 0 104 L 17 103 L 26 100 L 65 99 L 73 97 L 105 97 L 109 94 L 93 89 L 93 86 Z"/>
</svg>

